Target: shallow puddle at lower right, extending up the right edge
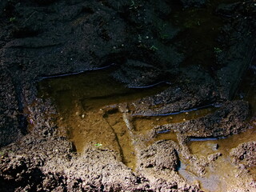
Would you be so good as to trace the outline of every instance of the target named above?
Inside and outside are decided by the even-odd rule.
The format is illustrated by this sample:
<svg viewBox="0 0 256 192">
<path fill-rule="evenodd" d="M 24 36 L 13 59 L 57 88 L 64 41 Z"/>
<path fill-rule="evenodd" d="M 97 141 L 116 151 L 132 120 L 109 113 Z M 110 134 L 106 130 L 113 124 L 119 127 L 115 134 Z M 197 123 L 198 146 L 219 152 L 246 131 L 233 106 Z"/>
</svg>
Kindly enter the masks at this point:
<svg viewBox="0 0 256 192">
<path fill-rule="evenodd" d="M 251 67 L 244 79 L 241 86 L 238 89 L 238 93 L 235 98 L 244 99 L 250 103 L 251 118 L 249 119 L 251 129 L 241 134 L 234 134 L 227 138 L 221 139 L 191 139 L 190 152 L 196 155 L 199 159 L 206 158 L 210 154 L 221 153 L 214 163 L 214 168 L 208 168 L 206 178 L 198 178 L 186 170 L 186 166 L 183 166 L 179 171 L 180 174 L 187 180 L 198 180 L 202 187 L 206 191 L 227 191 L 229 187 L 234 184 L 241 183 L 241 178 L 238 177 L 241 174 L 240 170 L 232 163 L 230 159 L 230 150 L 237 147 L 243 142 L 256 141 L 256 74 L 253 67 Z M 255 157 L 256 158 L 256 157 Z M 185 167 L 185 168 L 184 168 Z M 212 178 L 214 177 L 214 178 Z M 243 177 L 246 181 L 250 179 L 256 180 L 256 167 L 250 167 L 249 173 Z M 211 182 L 211 185 L 209 183 Z M 217 188 L 216 188 L 217 187 Z"/>
</svg>

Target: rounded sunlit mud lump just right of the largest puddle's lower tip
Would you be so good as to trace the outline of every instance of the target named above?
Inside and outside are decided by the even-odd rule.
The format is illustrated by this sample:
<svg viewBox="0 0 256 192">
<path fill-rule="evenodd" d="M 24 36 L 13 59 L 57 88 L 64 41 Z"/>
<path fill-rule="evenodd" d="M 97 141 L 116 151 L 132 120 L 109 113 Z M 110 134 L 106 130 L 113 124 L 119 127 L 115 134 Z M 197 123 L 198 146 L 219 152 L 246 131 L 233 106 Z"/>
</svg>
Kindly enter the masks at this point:
<svg viewBox="0 0 256 192">
<path fill-rule="evenodd" d="M 158 141 L 142 150 L 138 162 L 138 169 L 177 170 L 179 166 L 178 153 L 172 141 Z"/>
</svg>

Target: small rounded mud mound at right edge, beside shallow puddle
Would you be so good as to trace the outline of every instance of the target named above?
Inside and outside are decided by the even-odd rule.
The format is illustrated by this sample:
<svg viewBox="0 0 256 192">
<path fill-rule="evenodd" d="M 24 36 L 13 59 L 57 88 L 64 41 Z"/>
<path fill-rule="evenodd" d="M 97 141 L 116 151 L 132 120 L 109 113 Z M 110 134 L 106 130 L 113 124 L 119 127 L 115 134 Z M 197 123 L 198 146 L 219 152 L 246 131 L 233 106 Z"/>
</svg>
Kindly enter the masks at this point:
<svg viewBox="0 0 256 192">
<path fill-rule="evenodd" d="M 256 166 L 256 142 L 245 142 L 230 151 L 235 164 L 244 166 Z"/>
</svg>

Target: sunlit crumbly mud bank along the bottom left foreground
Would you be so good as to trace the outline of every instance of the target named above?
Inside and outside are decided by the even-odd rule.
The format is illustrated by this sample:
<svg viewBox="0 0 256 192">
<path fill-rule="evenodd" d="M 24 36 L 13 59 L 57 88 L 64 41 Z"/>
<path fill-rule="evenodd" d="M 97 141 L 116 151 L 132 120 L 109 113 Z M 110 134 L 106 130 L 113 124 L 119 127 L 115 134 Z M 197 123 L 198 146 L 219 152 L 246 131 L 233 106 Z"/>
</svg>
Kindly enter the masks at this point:
<svg viewBox="0 0 256 192">
<path fill-rule="evenodd" d="M 167 166 L 166 171 L 176 175 L 175 180 L 168 179 L 169 182 L 166 182 L 163 179 L 160 182 L 158 177 L 149 180 L 146 178 L 147 174 L 145 177 L 135 174 L 120 162 L 118 154 L 109 150 L 108 146 L 88 146 L 82 155 L 77 156 L 74 146 L 65 138 L 56 135 L 52 119 L 49 116 L 39 118 L 41 111 L 47 109 L 49 113 L 54 113 L 47 102 L 31 109 L 34 110 L 34 117 L 38 119 L 38 122 L 34 122 L 34 130 L 23 137 L 18 145 L 14 143 L 2 149 L 2 190 L 198 190 L 198 186 L 186 184 L 174 171 L 177 169 L 177 158 L 173 160 L 166 156 L 174 162 Z M 170 150 L 170 154 L 177 157 L 174 150 Z M 15 184 L 10 187 L 10 183 Z"/>
</svg>

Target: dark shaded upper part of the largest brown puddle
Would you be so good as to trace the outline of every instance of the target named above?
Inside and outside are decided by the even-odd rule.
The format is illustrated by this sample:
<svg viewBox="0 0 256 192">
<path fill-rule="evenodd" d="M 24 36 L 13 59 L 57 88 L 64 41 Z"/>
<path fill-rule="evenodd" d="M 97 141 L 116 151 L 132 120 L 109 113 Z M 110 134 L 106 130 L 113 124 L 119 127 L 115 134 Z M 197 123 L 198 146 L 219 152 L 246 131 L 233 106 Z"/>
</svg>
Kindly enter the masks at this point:
<svg viewBox="0 0 256 192">
<path fill-rule="evenodd" d="M 62 78 L 48 78 L 39 82 L 39 97 L 52 98 L 62 115 L 74 106 L 95 110 L 102 106 L 129 102 L 156 94 L 163 86 L 150 89 L 129 89 L 110 78 L 113 69 L 88 71 Z M 164 86 L 165 88 L 167 86 Z"/>
</svg>

